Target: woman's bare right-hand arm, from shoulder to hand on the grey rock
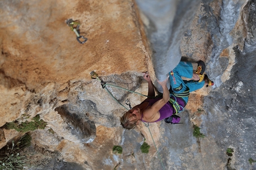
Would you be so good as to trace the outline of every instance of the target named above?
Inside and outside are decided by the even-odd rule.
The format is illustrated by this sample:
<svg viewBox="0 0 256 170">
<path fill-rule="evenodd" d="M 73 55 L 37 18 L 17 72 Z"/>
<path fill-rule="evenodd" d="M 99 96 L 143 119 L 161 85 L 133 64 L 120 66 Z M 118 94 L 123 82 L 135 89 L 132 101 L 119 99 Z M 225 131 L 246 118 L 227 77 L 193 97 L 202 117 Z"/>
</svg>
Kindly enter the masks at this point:
<svg viewBox="0 0 256 170">
<path fill-rule="evenodd" d="M 167 79 L 163 82 L 157 81 L 163 88 L 163 98 L 161 100 L 158 100 L 155 102 L 151 107 L 147 108 L 143 112 L 143 117 L 146 118 L 148 121 L 155 120 L 155 116 L 158 115 L 159 117 L 159 110 L 170 100 L 170 92 L 167 88 L 167 81 L 168 81 L 169 76 Z"/>
</svg>

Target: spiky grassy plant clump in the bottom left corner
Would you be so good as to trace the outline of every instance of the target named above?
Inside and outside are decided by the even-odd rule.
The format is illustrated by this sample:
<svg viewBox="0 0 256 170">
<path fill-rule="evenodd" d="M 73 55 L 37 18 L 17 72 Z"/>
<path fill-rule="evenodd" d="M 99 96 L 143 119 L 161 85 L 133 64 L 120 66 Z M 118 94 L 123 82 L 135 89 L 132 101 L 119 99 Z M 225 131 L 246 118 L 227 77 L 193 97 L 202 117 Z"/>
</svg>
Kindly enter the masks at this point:
<svg viewBox="0 0 256 170">
<path fill-rule="evenodd" d="M 20 155 L 20 150 L 24 147 L 30 146 L 31 136 L 25 134 L 21 139 L 15 143 L 14 140 L 11 142 L 11 147 L 8 145 L 1 149 L 0 156 L 0 169 L 12 170 L 12 169 L 23 169 L 26 164 L 26 156 Z"/>
</svg>

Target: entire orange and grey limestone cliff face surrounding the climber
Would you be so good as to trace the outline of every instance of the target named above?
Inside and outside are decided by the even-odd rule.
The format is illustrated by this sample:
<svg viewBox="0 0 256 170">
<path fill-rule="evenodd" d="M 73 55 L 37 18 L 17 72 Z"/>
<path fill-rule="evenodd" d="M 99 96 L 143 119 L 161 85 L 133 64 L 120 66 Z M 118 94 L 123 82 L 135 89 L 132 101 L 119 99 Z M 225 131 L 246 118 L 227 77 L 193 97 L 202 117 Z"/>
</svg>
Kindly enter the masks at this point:
<svg viewBox="0 0 256 170">
<path fill-rule="evenodd" d="M 160 25 L 170 18 L 158 31 L 143 18 L 151 15 L 146 7 L 152 4 L 137 2 L 143 15 L 133 1 L 0 2 L 0 147 L 21 135 L 4 129 L 5 123 L 40 114 L 46 129 L 30 133 L 41 154 L 36 165 L 45 169 L 256 169 L 248 161 L 256 160 L 255 1 L 186 1 L 194 9 L 187 13 L 185 1 L 170 1 L 176 5 L 154 12 L 164 17 Z M 69 18 L 80 21 L 86 43 L 77 42 L 65 23 Z M 163 75 L 159 52 L 180 53 L 173 64 L 182 56 L 204 60 L 215 85 L 190 95 L 180 113 L 183 124 L 161 121 L 151 123 L 150 132 L 144 124 L 124 130 L 119 116 L 128 108 L 126 99 L 135 106 L 145 97 L 110 85 L 102 88 L 90 72 L 106 84 L 146 94 L 142 72 L 148 70 L 152 79 Z M 193 136 L 193 124 L 204 138 Z M 148 154 L 140 149 L 145 139 Z M 123 153 L 113 154 L 114 145 Z M 226 155 L 227 148 L 233 156 Z M 48 161 L 42 156 L 46 153 Z"/>
</svg>

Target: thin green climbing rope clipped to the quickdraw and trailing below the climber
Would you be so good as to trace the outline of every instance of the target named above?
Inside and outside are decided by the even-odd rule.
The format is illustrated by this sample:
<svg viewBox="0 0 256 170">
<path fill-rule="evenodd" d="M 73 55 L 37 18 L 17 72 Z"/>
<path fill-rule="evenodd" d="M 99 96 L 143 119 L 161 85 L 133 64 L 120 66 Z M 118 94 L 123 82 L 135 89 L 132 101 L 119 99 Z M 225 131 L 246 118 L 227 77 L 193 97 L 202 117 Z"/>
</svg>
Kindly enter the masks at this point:
<svg viewBox="0 0 256 170">
<path fill-rule="evenodd" d="M 129 89 L 121 88 L 120 86 L 111 85 L 111 84 L 105 84 L 104 81 L 102 81 L 101 79 L 99 79 L 97 73 L 95 73 L 95 72 L 93 72 L 93 71 L 90 72 L 90 77 L 93 78 L 93 79 L 98 80 L 99 82 L 101 82 L 102 88 L 104 88 L 104 89 L 108 92 L 108 94 L 110 94 L 110 96 L 111 96 L 115 101 L 117 101 L 121 106 L 123 106 L 124 108 L 126 108 L 126 107 L 125 107 L 123 104 L 121 104 L 121 102 L 119 102 L 119 101 L 111 94 L 111 92 L 108 91 L 107 88 L 105 88 L 106 86 L 108 86 L 108 85 L 109 85 L 109 86 L 114 86 L 114 87 L 119 88 L 119 89 L 123 89 L 123 90 L 129 91 L 129 92 L 133 92 L 133 93 L 138 94 L 138 95 L 142 95 L 142 96 L 144 96 L 144 97 L 148 97 L 147 95 L 143 95 L 143 94 L 140 94 L 140 93 L 135 92 L 135 91 L 130 91 Z M 129 105 L 129 108 L 130 108 L 130 109 L 132 108 L 132 107 L 130 106 L 130 101 L 129 101 L 129 100 L 126 100 L 126 104 Z M 130 110 L 129 108 L 126 108 L 126 110 Z M 143 122 L 143 121 L 142 121 L 142 122 Z M 146 124 L 145 122 L 143 122 L 143 124 L 144 124 L 146 127 L 148 127 L 148 130 L 149 130 L 149 133 L 150 133 L 150 135 L 151 135 L 152 141 L 153 141 L 153 143 L 154 143 L 155 149 L 157 150 L 158 158 L 160 159 L 160 162 L 161 162 L 161 164 L 162 164 L 162 166 L 163 166 L 163 169 L 165 169 L 165 168 L 164 168 L 163 161 L 161 160 L 161 156 L 160 156 L 160 154 L 159 154 L 159 152 L 158 152 L 157 145 L 155 145 L 155 140 L 154 140 L 154 138 L 153 138 L 153 136 L 152 136 L 151 130 L 149 129 L 149 123 Z"/>
</svg>

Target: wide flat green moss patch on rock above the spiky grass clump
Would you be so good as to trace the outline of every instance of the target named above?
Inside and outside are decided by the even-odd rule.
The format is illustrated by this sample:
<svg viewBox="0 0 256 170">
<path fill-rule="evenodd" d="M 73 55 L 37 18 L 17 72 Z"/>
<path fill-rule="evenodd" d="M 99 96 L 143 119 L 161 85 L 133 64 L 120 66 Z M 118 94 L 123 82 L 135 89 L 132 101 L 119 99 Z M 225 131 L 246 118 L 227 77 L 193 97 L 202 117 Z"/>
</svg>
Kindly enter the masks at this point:
<svg viewBox="0 0 256 170">
<path fill-rule="evenodd" d="M 33 118 L 33 121 L 26 121 L 21 124 L 18 124 L 17 121 L 13 121 L 5 124 L 5 129 L 15 129 L 20 132 L 33 131 L 36 129 L 45 129 L 46 122 L 43 120 L 39 120 L 39 114 Z"/>
</svg>

